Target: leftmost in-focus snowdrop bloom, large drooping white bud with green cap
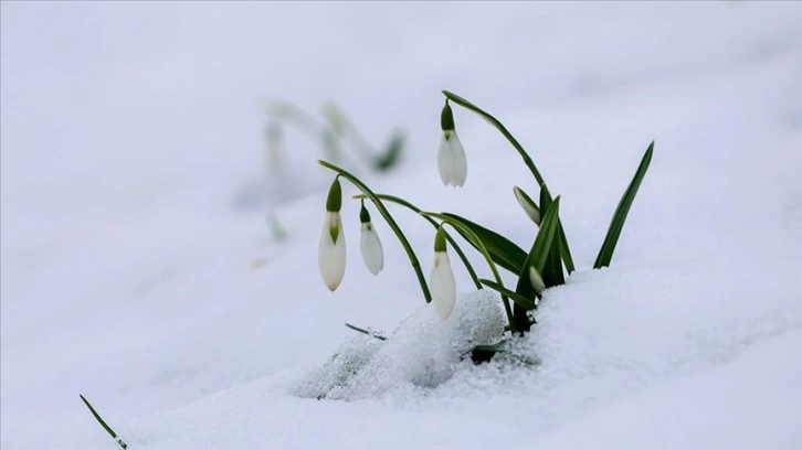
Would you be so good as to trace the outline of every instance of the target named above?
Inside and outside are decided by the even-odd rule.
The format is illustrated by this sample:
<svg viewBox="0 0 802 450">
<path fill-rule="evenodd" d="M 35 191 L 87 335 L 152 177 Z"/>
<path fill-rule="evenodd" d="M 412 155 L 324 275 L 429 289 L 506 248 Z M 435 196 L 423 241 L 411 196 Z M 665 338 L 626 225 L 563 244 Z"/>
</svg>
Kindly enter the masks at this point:
<svg viewBox="0 0 802 450">
<path fill-rule="evenodd" d="M 326 218 L 320 234 L 320 246 L 317 251 L 317 264 L 320 277 L 326 287 L 334 291 L 340 286 L 346 274 L 346 236 L 342 233 L 340 207 L 342 206 L 342 189 L 336 178 L 326 199 Z"/>
</svg>

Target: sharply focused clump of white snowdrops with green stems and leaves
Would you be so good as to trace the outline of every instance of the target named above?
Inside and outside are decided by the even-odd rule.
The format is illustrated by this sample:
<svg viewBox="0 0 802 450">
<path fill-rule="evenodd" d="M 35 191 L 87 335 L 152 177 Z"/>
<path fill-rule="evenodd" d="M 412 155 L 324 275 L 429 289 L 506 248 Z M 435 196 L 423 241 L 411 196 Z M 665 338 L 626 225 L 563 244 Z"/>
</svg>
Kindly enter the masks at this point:
<svg viewBox="0 0 802 450">
<path fill-rule="evenodd" d="M 437 168 L 443 184 L 462 186 L 467 178 L 467 159 L 456 133 L 454 116 L 451 108 L 451 103 L 454 103 L 464 109 L 477 114 L 502 132 L 513 148 L 520 154 L 524 164 L 531 172 L 540 191 L 539 202 L 535 202 L 521 188 L 514 186 L 513 189 L 515 197 L 521 208 L 538 228 L 530 249 L 526 251 L 507 237 L 456 214 L 424 212 L 401 197 L 377 194 L 347 170 L 331 162 L 319 161 L 321 165 L 337 173 L 326 202 L 326 218 L 320 236 L 320 275 L 330 290 L 335 290 L 339 286 L 345 275 L 346 247 L 341 233 L 340 207 L 342 194 L 339 183 L 339 179 L 344 178 L 362 192 L 360 195 L 356 195 L 356 199 L 362 202 L 360 211 L 360 221 L 362 223 L 360 249 L 366 265 L 373 275 L 377 275 L 381 270 L 383 255 L 381 243 L 370 222 L 370 215 L 365 207 L 365 200 L 373 203 L 395 234 L 418 277 L 425 301 L 432 303 L 434 311 L 442 320 L 449 319 L 456 301 L 456 285 L 447 254 L 447 246 L 451 245 L 468 271 L 475 287 L 477 289 L 486 287 L 500 294 L 502 304 L 507 317 L 507 330 L 513 335 L 521 335 L 530 331 L 532 323 L 535 323 L 532 313 L 537 309 L 544 290 L 564 283 L 564 272 L 567 271 L 570 275 L 574 271 L 571 250 L 559 217 L 560 197 L 551 196 L 546 181 L 535 165 L 531 157 L 500 121 L 463 97 L 447 90 L 444 90 L 443 94 L 445 95 L 445 105 L 441 111 L 443 137 L 437 150 Z M 593 268 L 610 265 L 626 215 L 651 163 L 653 149 L 654 141 L 648 146 L 634 178 L 630 182 L 613 214 L 612 222 L 610 223 Z M 404 206 L 418 213 L 436 229 L 434 238 L 434 260 L 429 281 L 423 276 L 420 261 L 414 250 L 401 228 L 390 215 L 386 203 Z M 462 238 L 479 251 L 493 274 L 492 280 L 478 277 L 476 270 L 468 262 L 464 251 L 454 238 L 445 232 L 445 225 L 455 229 Z M 509 289 L 504 285 L 498 270 L 499 267 L 518 277 L 515 289 Z M 357 326 L 349 326 L 365 332 L 365 330 Z M 479 345 L 476 349 L 489 352 L 490 356 L 493 352 L 504 350 L 498 343 Z"/>
</svg>

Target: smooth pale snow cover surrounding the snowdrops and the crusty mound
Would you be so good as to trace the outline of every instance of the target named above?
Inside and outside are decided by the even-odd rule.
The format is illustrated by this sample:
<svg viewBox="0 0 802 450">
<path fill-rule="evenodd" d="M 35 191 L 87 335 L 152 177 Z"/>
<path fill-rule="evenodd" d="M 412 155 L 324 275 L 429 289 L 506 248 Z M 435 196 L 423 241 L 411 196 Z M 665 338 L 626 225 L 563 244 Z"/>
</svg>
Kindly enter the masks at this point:
<svg viewBox="0 0 802 450">
<path fill-rule="evenodd" d="M 114 448 L 80 393 L 130 448 L 802 448 L 799 3 L 0 13 L 3 449 Z M 377 191 L 528 248 L 511 186 L 536 186 L 462 109 L 467 184 L 442 186 L 443 88 L 504 121 L 562 195 L 580 270 L 544 299 L 542 363 L 460 366 L 435 388 L 401 377 L 356 401 L 297 398 L 353 336 L 344 322 L 391 331 L 423 301 L 381 223 L 386 270 L 361 266 L 356 203 L 346 279 L 334 294 L 319 281 L 331 176 L 313 141 L 288 137 L 288 201 L 239 201 L 263 185 L 265 101 L 337 101 L 377 143 L 405 130 L 402 165 L 367 176 Z M 652 139 L 612 267 L 592 271 Z M 428 269 L 431 227 L 398 217 Z"/>
</svg>

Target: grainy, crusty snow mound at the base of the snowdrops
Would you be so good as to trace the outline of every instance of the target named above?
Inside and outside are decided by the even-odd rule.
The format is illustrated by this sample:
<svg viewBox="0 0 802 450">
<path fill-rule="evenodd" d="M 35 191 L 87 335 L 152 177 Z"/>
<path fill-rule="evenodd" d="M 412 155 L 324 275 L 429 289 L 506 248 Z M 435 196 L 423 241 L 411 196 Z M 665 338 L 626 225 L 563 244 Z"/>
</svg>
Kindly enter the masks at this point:
<svg viewBox="0 0 802 450">
<path fill-rule="evenodd" d="M 504 325 L 498 296 L 488 290 L 460 296 L 445 321 L 424 306 L 387 341 L 359 335 L 344 343 L 323 367 L 303 377 L 294 394 L 355 400 L 434 388 L 473 364 L 468 354 L 475 345 L 498 342 Z"/>
</svg>

